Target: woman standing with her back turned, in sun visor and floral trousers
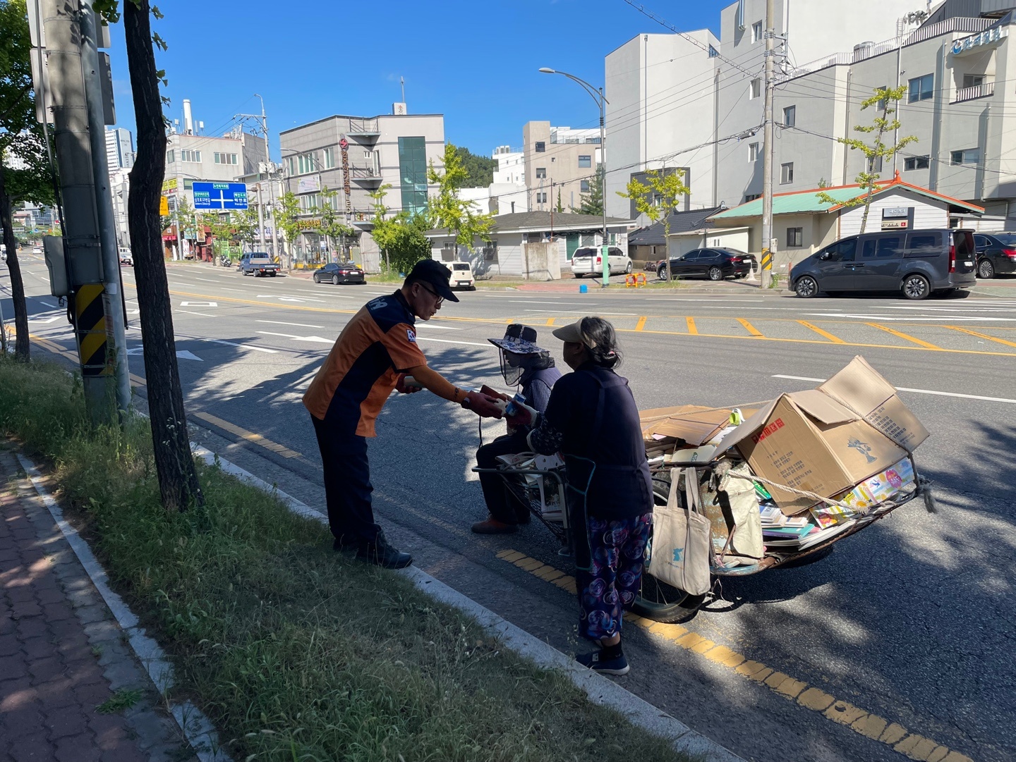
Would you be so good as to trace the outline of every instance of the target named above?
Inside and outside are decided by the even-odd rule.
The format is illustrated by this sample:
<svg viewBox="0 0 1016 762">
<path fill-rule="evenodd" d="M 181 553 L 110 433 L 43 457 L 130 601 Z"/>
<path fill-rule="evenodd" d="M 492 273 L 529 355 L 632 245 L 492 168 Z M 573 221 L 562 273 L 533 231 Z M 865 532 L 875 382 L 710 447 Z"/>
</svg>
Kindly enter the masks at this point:
<svg viewBox="0 0 1016 762">
<path fill-rule="evenodd" d="M 621 363 L 614 327 L 583 318 L 559 328 L 565 362 L 574 370 L 554 385 L 544 415 L 509 418 L 531 424 L 529 446 L 560 452 L 568 471 L 568 511 L 575 535 L 579 634 L 600 649 L 578 662 L 609 675 L 628 673 L 621 646 L 624 612 L 642 580 L 652 523 L 652 482 L 635 398 L 614 372 Z"/>
</svg>

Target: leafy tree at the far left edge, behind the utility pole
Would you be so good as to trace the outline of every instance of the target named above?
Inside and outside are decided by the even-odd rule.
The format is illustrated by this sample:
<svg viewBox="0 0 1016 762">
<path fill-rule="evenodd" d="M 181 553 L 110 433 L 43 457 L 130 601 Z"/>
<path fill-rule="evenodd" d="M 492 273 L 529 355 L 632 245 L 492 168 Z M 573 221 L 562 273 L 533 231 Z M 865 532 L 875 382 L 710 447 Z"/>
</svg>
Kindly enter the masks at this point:
<svg viewBox="0 0 1016 762">
<path fill-rule="evenodd" d="M 45 137 L 36 122 L 30 50 L 24 0 L 0 0 L 0 227 L 14 306 L 14 357 L 22 362 L 29 357 L 28 310 L 13 208 L 21 201 L 54 203 Z"/>
</svg>

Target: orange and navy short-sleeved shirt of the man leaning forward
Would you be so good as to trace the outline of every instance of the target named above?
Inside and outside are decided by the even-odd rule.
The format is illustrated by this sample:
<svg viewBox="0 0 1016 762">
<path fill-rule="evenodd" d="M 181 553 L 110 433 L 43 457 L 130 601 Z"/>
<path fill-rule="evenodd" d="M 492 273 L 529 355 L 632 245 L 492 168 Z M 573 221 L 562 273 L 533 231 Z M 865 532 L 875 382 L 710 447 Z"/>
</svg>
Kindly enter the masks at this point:
<svg viewBox="0 0 1016 762">
<path fill-rule="evenodd" d="M 304 395 L 310 414 L 348 433 L 376 436 L 374 421 L 398 374 L 427 364 L 415 323 L 401 291 L 361 307 Z"/>
</svg>

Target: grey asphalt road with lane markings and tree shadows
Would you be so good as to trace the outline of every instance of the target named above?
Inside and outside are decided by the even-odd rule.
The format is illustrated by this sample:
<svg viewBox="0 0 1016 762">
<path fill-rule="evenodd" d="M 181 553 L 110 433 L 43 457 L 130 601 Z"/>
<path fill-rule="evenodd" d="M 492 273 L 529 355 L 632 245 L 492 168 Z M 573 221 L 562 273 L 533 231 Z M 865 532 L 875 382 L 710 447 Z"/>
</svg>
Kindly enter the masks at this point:
<svg viewBox="0 0 1016 762">
<path fill-rule="evenodd" d="M 24 265 L 31 333 L 43 340 L 35 351 L 73 349 L 64 310 L 44 295 L 45 267 L 30 255 Z M 124 280 L 143 408 L 130 268 Z M 194 438 L 323 508 L 300 398 L 348 318 L 393 287 L 253 279 L 193 264 L 171 266 L 169 280 Z M 10 316 L 9 297 L 4 309 Z M 720 598 L 685 625 L 807 683 L 808 694 L 791 683 L 773 689 L 753 681 L 702 655 L 704 648 L 669 639 L 673 630 L 644 626 L 626 630 L 633 671 L 621 682 L 750 760 L 1013 759 L 1016 293 L 914 303 L 802 300 L 734 285 L 480 290 L 420 324 L 419 338 L 430 363 L 459 386 L 504 389 L 488 337 L 525 322 L 560 357 L 548 327 L 592 314 L 621 331 L 621 372 L 642 408 L 772 399 L 812 388 L 864 355 L 905 390 L 900 396 L 932 432 L 917 463 L 938 487 L 938 513 L 914 501 L 818 563 L 727 578 Z M 484 424 L 485 440 L 502 427 Z M 573 597 L 498 557 L 517 551 L 570 573 L 550 533 L 538 525 L 509 537 L 468 532 L 486 515 L 469 471 L 475 417 L 427 393 L 396 396 L 378 433 L 370 458 L 389 537 L 509 620 L 562 649 L 582 649 Z M 825 708 L 823 696 L 837 703 Z M 901 745 L 893 723 L 910 734 Z"/>
</svg>

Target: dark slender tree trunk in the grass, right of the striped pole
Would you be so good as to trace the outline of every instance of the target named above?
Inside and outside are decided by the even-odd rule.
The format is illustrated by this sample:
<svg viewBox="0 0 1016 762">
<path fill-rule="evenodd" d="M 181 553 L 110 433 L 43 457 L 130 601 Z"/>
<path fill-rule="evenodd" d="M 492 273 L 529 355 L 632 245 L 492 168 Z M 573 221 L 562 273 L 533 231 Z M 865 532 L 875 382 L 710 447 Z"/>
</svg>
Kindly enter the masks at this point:
<svg viewBox="0 0 1016 762">
<path fill-rule="evenodd" d="M 151 440 L 163 505 L 167 510 L 186 510 L 191 501 L 203 504 L 204 497 L 187 435 L 163 256 L 158 199 L 166 164 L 166 132 L 152 51 L 150 10 L 148 0 L 138 0 L 136 5 L 125 2 L 123 8 L 137 124 L 137 154 L 130 172 L 127 219 L 144 337 Z"/>
</svg>

